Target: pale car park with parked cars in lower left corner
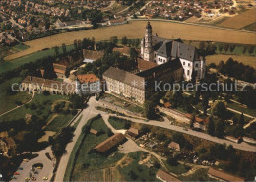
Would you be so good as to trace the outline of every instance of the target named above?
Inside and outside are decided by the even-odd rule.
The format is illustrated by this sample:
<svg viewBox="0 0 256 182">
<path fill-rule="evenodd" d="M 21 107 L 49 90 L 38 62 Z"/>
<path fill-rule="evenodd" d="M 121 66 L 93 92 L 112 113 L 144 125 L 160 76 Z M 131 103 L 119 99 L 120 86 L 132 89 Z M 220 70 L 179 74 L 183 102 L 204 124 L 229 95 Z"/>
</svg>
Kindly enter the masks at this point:
<svg viewBox="0 0 256 182">
<path fill-rule="evenodd" d="M 20 167 L 23 168 L 23 170 L 18 170 L 17 172 L 20 173 L 20 175 L 16 175 L 17 179 L 11 180 L 11 182 L 22 182 L 25 181 L 25 178 L 30 177 L 30 173 L 32 174 L 33 177 L 36 178 L 36 181 L 43 181 L 47 182 L 50 181 L 52 174 L 53 174 L 53 169 L 54 169 L 54 162 L 47 158 L 45 153 L 50 153 L 50 156 L 52 158 L 52 152 L 50 147 L 46 148 L 45 150 L 42 150 L 40 152 L 33 152 L 33 154 L 38 154 L 38 157 L 33 158 L 32 160 L 29 160 L 28 162 L 23 161 L 20 165 Z M 31 171 L 31 168 L 34 164 L 36 163 L 41 163 L 43 164 L 42 169 L 37 169 L 38 174 L 34 174 Z M 47 177 L 48 180 L 42 180 L 43 177 Z"/>
</svg>

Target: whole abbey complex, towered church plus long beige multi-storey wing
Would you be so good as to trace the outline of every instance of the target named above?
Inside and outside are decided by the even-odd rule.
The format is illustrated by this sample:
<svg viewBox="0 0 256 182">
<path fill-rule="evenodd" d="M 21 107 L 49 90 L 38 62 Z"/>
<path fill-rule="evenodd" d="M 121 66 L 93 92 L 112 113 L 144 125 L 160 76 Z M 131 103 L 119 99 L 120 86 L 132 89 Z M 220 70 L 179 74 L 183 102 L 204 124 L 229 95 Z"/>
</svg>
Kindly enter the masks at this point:
<svg viewBox="0 0 256 182">
<path fill-rule="evenodd" d="M 192 75 L 204 78 L 205 60 L 197 49 L 181 40 L 152 35 L 150 22 L 141 41 L 141 59 L 132 72 L 110 67 L 103 73 L 106 91 L 144 103 L 155 91 L 156 83 L 189 81 Z"/>
</svg>

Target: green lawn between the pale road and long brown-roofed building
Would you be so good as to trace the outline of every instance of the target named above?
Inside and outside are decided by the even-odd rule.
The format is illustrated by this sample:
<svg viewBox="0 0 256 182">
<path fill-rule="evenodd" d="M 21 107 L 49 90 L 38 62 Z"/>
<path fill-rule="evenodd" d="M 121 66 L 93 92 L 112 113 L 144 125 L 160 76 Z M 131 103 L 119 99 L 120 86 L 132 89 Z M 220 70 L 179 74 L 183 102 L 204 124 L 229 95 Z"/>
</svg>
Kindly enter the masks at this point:
<svg viewBox="0 0 256 182">
<path fill-rule="evenodd" d="M 96 129 L 97 131 L 107 131 L 107 126 L 105 125 L 101 117 L 92 121 L 91 128 Z M 82 141 L 83 143 L 79 149 L 78 156 L 75 159 L 74 170 L 72 173 L 72 181 L 86 181 L 87 179 L 85 179 L 85 173 L 87 172 L 87 170 L 94 170 L 98 168 L 113 166 L 119 159 L 123 157 L 123 154 L 117 152 L 114 152 L 113 154 L 108 156 L 100 155 L 96 152 L 91 152 L 91 150 L 97 144 L 107 138 L 108 136 L 106 133 L 99 136 L 91 133 L 86 135 L 85 140 Z M 85 167 L 85 165 L 87 166 Z"/>
</svg>

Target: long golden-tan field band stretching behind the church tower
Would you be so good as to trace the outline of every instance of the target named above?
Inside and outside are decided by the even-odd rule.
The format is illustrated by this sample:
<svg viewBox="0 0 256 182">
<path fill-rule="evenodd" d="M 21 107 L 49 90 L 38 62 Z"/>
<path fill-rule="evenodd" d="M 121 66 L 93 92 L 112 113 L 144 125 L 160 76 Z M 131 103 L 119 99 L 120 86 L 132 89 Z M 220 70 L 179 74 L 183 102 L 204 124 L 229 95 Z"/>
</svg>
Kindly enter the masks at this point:
<svg viewBox="0 0 256 182">
<path fill-rule="evenodd" d="M 240 44 L 255 44 L 256 34 L 236 30 L 223 30 L 219 28 L 206 27 L 203 25 L 187 25 L 182 23 L 151 21 L 153 33 L 158 33 L 164 38 L 181 38 L 186 40 L 216 41 Z M 129 24 L 104 27 L 92 30 L 81 30 L 75 32 L 61 33 L 45 38 L 25 42 L 30 48 L 6 57 L 6 60 L 16 59 L 21 56 L 32 54 L 44 48 L 73 44 L 74 39 L 92 38 L 108 40 L 111 36 L 119 38 L 142 38 L 145 32 L 146 21 L 130 21 Z"/>
</svg>

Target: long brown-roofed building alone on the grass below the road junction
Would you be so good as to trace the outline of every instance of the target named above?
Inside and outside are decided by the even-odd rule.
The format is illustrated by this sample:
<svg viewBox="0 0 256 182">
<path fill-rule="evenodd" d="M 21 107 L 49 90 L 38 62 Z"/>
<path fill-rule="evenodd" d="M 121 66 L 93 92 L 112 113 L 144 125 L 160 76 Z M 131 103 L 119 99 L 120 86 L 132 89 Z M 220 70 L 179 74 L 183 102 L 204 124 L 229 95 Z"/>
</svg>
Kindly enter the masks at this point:
<svg viewBox="0 0 256 182">
<path fill-rule="evenodd" d="M 100 144 L 96 145 L 94 148 L 97 152 L 105 153 L 112 150 L 118 144 L 122 143 L 125 140 L 125 136 L 122 133 L 116 133 L 106 139 L 105 141 L 101 142 Z"/>
</svg>

